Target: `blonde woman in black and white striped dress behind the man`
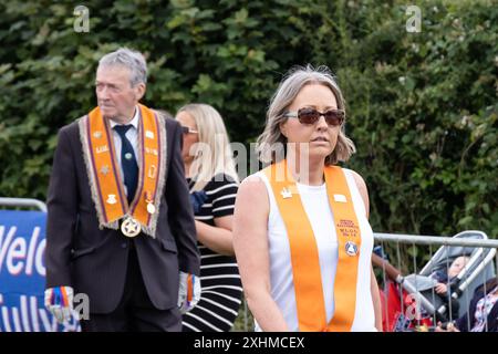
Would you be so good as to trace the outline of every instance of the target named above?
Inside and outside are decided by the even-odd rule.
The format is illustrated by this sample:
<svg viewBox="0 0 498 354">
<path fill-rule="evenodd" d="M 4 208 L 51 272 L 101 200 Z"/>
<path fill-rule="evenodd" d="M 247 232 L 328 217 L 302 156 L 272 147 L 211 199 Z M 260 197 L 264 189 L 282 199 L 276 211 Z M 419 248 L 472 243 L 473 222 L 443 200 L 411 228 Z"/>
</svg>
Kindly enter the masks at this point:
<svg viewBox="0 0 498 354">
<path fill-rule="evenodd" d="M 231 240 L 238 188 L 232 152 L 214 107 L 188 104 L 176 119 L 184 129 L 183 158 L 199 241 L 201 285 L 200 301 L 183 316 L 183 331 L 229 331 L 242 295 Z"/>
</svg>

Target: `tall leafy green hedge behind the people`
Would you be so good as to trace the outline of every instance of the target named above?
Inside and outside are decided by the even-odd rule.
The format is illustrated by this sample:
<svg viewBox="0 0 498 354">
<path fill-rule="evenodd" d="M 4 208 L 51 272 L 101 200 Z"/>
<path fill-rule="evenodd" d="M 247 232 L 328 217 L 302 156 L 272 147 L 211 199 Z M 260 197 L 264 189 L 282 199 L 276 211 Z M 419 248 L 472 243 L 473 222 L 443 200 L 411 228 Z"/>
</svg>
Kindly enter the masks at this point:
<svg viewBox="0 0 498 354">
<path fill-rule="evenodd" d="M 206 102 L 255 142 L 294 64 L 326 64 L 349 107 L 375 231 L 498 235 L 494 1 L 2 1 L 0 195 L 44 199 L 56 132 L 95 105 L 97 60 L 122 45 L 149 63 L 145 103 Z M 416 249 L 414 249 L 416 251 Z"/>
</svg>

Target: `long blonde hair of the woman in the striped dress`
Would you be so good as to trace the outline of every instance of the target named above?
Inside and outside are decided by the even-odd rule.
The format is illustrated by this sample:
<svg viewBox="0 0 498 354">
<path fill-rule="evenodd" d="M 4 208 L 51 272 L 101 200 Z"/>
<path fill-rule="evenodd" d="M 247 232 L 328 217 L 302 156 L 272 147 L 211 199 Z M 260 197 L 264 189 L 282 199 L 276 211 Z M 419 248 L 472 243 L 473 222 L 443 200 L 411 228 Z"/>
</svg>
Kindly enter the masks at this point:
<svg viewBox="0 0 498 354">
<path fill-rule="evenodd" d="M 195 180 L 190 191 L 204 189 L 212 177 L 221 174 L 239 183 L 227 129 L 218 111 L 207 104 L 191 103 L 179 108 L 180 112 L 194 118 L 199 138 L 190 148 L 194 155 L 190 175 Z"/>
</svg>

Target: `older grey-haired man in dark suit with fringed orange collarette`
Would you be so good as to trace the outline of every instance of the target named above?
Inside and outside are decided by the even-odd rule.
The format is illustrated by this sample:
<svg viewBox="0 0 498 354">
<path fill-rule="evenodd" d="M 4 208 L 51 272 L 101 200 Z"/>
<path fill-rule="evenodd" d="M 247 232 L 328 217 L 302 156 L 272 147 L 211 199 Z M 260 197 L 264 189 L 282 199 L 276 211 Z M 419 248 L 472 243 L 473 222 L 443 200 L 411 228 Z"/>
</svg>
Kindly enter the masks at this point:
<svg viewBox="0 0 498 354">
<path fill-rule="evenodd" d="M 98 106 L 59 133 L 48 196 L 45 305 L 83 331 L 180 331 L 200 296 L 199 253 L 179 124 L 142 104 L 138 52 L 103 56 Z"/>
</svg>

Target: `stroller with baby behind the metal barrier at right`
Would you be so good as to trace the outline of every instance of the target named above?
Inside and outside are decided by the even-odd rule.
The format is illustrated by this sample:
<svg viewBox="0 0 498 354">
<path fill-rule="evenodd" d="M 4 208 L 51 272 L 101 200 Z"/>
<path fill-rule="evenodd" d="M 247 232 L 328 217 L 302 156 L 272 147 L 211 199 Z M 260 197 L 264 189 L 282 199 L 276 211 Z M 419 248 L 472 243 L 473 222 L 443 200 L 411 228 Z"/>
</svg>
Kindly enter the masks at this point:
<svg viewBox="0 0 498 354">
<path fill-rule="evenodd" d="M 474 230 L 454 238 L 488 239 L 486 233 Z M 411 331 L 417 326 L 432 330 L 439 321 L 460 317 L 474 289 L 495 275 L 495 254 L 494 248 L 443 246 L 419 272 L 409 275 L 403 275 L 383 252 L 372 254 L 372 263 L 386 275 L 381 293 L 384 331 Z"/>
</svg>

